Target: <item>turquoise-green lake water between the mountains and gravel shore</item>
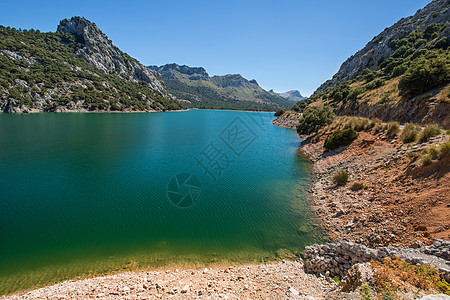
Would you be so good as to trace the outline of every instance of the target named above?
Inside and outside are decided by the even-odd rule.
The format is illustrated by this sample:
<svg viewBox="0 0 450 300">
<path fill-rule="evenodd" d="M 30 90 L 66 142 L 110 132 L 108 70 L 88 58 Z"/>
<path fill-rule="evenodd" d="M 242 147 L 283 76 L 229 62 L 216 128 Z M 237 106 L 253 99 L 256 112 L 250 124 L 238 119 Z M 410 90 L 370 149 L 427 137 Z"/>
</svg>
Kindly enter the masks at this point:
<svg viewBox="0 0 450 300">
<path fill-rule="evenodd" d="M 130 261 L 267 260 L 317 241 L 309 165 L 272 119 L 1 114 L 0 292 Z"/>
</svg>

